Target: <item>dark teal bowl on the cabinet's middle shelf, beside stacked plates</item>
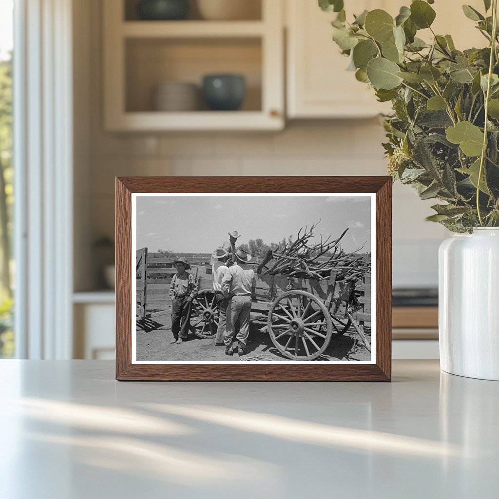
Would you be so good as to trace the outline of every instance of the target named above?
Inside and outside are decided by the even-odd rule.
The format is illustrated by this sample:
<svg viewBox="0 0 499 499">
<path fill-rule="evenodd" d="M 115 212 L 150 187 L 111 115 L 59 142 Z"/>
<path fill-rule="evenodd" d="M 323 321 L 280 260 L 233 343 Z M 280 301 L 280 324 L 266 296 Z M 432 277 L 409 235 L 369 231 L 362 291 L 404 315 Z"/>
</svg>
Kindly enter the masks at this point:
<svg viewBox="0 0 499 499">
<path fill-rule="evenodd" d="M 203 96 L 212 111 L 236 111 L 246 96 L 246 79 L 240 74 L 208 74 Z"/>
</svg>

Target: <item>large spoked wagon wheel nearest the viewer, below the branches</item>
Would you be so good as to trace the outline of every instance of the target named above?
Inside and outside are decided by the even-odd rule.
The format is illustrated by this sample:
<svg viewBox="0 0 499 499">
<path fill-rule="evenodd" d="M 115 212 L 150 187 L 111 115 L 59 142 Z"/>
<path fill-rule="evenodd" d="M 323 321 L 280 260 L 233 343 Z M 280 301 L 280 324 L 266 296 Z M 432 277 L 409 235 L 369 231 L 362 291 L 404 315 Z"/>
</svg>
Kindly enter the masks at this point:
<svg viewBox="0 0 499 499">
<path fill-rule="evenodd" d="M 307 291 L 295 289 L 270 304 L 267 329 L 283 355 L 293 360 L 313 360 L 329 345 L 333 327 L 324 303 Z"/>
</svg>

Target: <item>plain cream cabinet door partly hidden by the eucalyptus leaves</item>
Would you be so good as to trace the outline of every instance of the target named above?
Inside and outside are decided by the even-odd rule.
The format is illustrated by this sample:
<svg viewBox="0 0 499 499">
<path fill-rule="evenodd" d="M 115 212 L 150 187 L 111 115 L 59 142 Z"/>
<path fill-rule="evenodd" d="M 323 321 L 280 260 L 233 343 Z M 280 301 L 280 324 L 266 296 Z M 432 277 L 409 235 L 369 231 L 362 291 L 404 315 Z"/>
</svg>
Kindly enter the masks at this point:
<svg viewBox="0 0 499 499">
<path fill-rule="evenodd" d="M 396 15 L 400 1 L 348 2 L 347 15 L 383 8 Z M 332 40 L 334 12 L 323 12 L 316 0 L 287 0 L 287 115 L 289 118 L 375 116 L 390 110 L 374 90 L 346 71 L 348 57 Z"/>
</svg>

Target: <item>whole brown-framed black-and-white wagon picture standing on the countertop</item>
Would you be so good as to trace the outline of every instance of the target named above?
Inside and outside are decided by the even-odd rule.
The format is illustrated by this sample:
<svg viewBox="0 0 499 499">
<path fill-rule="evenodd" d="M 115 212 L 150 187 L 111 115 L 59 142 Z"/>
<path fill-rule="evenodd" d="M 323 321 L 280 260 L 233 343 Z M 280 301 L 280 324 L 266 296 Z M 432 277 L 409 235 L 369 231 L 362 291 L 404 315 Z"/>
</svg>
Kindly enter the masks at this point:
<svg viewBox="0 0 499 499">
<path fill-rule="evenodd" d="M 116 179 L 116 379 L 390 381 L 390 177 Z"/>
</svg>

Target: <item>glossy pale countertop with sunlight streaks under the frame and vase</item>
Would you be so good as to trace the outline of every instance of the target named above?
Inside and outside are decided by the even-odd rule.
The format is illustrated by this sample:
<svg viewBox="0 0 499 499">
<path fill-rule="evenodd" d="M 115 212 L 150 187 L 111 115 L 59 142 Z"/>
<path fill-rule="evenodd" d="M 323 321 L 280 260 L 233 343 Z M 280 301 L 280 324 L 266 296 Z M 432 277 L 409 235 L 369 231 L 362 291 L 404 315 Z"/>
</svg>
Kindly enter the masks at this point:
<svg viewBox="0 0 499 499">
<path fill-rule="evenodd" d="M 0 361 L 0 498 L 493 498 L 499 383 L 131 383 Z"/>
</svg>

